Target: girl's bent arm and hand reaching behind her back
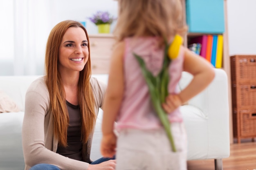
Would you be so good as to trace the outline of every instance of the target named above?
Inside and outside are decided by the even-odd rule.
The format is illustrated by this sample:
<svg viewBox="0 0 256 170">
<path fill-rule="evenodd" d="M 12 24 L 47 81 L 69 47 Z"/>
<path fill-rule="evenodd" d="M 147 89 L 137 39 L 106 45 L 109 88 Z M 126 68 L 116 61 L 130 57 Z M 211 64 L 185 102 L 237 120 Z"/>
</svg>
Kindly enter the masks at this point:
<svg viewBox="0 0 256 170">
<path fill-rule="evenodd" d="M 168 95 L 163 108 L 167 113 L 171 113 L 180 105 L 186 103 L 203 91 L 213 80 L 215 72 L 211 63 L 199 55 L 191 52 L 189 49 L 181 47 L 184 50 L 183 70 L 193 75 L 193 79 L 186 88 L 177 95 Z"/>
</svg>

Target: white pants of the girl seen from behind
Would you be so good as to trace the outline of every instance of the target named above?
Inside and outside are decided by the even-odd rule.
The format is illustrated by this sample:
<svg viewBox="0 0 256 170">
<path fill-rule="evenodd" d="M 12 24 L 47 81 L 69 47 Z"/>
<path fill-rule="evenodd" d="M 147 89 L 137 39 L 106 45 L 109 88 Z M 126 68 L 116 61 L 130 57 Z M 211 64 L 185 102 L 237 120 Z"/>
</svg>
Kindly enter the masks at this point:
<svg viewBox="0 0 256 170">
<path fill-rule="evenodd" d="M 124 129 L 117 139 L 116 170 L 186 170 L 187 139 L 183 123 L 172 123 L 176 152 L 163 128 Z"/>
</svg>

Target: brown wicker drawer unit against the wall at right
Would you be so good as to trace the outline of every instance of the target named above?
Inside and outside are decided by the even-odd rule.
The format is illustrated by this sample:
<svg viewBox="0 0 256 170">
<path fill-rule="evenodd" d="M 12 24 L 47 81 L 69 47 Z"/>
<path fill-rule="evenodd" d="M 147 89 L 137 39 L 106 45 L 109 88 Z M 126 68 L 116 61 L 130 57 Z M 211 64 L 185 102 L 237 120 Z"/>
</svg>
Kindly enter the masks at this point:
<svg viewBox="0 0 256 170">
<path fill-rule="evenodd" d="M 256 137 L 256 55 L 231 56 L 233 133 L 240 139 Z"/>
</svg>

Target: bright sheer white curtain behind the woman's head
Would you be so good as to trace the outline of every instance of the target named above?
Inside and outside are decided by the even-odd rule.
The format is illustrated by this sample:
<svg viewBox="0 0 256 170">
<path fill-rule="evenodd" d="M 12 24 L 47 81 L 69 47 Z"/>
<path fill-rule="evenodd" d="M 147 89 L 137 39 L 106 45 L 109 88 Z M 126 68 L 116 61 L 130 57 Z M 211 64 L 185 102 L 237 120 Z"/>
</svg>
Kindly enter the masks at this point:
<svg viewBox="0 0 256 170">
<path fill-rule="evenodd" d="M 55 0 L 13 0 L 13 75 L 43 75 Z"/>
</svg>

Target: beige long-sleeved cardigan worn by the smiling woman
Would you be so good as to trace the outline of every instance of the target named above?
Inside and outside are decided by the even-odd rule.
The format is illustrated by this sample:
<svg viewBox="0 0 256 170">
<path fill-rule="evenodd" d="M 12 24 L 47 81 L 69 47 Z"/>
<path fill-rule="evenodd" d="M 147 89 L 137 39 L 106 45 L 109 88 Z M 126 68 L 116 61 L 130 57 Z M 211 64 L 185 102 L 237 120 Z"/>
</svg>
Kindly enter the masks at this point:
<svg viewBox="0 0 256 170">
<path fill-rule="evenodd" d="M 95 113 L 103 104 L 106 85 L 96 78 L 90 79 L 95 98 Z M 88 144 L 83 145 L 84 161 L 90 161 L 92 134 Z M 58 139 L 53 134 L 53 115 L 49 112 L 49 91 L 44 77 L 35 80 L 28 88 L 25 98 L 25 115 L 22 125 L 22 147 L 25 170 L 38 163 L 48 163 L 61 170 L 87 170 L 88 163 L 64 157 L 56 153 Z"/>
</svg>

